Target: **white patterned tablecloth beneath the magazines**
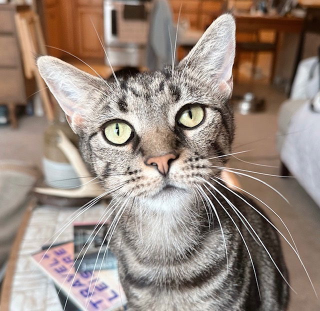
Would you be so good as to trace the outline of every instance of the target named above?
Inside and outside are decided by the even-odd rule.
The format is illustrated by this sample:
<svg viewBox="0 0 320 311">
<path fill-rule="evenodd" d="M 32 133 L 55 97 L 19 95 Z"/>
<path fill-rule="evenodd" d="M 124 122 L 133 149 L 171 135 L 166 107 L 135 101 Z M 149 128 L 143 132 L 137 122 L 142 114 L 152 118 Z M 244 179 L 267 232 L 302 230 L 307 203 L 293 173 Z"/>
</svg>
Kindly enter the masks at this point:
<svg viewBox="0 0 320 311">
<path fill-rule="evenodd" d="M 97 204 L 79 215 L 76 222 L 94 222 L 100 218 L 105 205 Z M 53 242 L 55 232 L 71 219 L 76 208 L 37 206 L 32 210 L 25 233 L 21 240 L 15 271 L 12 276 L 9 299 L 10 311 L 61 311 L 53 281 L 47 277 L 31 258 L 43 244 Z M 56 243 L 73 239 L 70 223 Z"/>
</svg>

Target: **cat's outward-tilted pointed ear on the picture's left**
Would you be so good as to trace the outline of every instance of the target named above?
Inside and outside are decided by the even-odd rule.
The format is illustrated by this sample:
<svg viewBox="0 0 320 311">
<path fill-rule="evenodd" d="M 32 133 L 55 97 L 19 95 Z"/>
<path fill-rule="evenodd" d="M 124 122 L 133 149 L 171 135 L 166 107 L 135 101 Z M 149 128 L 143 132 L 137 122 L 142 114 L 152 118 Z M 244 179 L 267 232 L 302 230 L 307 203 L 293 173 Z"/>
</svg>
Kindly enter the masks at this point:
<svg viewBox="0 0 320 311">
<path fill-rule="evenodd" d="M 37 58 L 40 75 L 56 98 L 74 132 L 85 127 L 92 110 L 92 94 L 100 85 L 97 77 L 52 56 Z"/>
</svg>

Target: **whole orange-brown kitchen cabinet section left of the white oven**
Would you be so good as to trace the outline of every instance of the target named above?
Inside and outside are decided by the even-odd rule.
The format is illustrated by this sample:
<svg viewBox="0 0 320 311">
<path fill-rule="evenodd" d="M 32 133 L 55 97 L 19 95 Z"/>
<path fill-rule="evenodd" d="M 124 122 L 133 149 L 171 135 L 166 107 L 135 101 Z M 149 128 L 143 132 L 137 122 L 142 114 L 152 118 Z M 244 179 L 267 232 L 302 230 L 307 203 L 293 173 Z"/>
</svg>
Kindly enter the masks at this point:
<svg viewBox="0 0 320 311">
<path fill-rule="evenodd" d="M 102 40 L 102 3 L 102 0 L 38 0 L 47 44 L 81 59 L 103 59 L 103 49 L 94 30 L 95 27 Z M 53 48 L 48 48 L 48 53 L 56 57 L 67 55 Z"/>
</svg>

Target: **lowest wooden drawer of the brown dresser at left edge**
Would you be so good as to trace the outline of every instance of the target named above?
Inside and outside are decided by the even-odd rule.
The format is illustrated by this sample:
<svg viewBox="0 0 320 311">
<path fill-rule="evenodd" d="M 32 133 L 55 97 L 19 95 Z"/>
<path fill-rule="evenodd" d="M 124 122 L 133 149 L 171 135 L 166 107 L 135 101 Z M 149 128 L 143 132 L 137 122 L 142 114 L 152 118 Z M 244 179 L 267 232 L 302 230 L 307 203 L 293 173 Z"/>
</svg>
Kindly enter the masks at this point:
<svg viewBox="0 0 320 311">
<path fill-rule="evenodd" d="M 19 69 L 0 68 L 0 102 L 25 102 L 22 78 Z"/>
</svg>

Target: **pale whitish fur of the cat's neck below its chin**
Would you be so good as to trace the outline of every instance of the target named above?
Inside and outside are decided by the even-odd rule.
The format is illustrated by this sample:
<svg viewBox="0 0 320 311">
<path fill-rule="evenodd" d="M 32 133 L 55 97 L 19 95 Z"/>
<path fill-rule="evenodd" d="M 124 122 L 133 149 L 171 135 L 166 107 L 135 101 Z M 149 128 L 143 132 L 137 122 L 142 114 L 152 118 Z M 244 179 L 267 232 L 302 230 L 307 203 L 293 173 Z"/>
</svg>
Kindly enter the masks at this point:
<svg viewBox="0 0 320 311">
<path fill-rule="evenodd" d="M 185 194 L 182 199 L 135 200 L 131 212 L 124 215 L 118 232 L 138 256 L 173 259 L 183 256 L 209 231 L 209 217 L 201 208 L 203 206 L 196 206 L 191 194 Z"/>
</svg>

